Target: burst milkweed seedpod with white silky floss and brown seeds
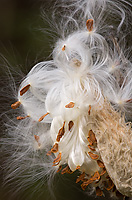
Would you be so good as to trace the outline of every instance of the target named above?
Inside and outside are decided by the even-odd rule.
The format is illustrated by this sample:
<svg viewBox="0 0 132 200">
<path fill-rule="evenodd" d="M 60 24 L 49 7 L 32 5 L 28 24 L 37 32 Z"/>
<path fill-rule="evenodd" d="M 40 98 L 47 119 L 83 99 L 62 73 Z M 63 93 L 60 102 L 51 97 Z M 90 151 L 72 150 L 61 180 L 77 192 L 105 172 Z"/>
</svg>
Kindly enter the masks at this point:
<svg viewBox="0 0 132 200">
<path fill-rule="evenodd" d="M 4 167 L 7 182 L 24 177 L 21 188 L 28 177 L 33 184 L 48 174 L 51 181 L 56 173 L 77 172 L 76 184 L 84 191 L 132 197 L 132 63 L 120 35 L 128 30 L 131 4 L 57 2 L 64 12 L 57 17 L 61 39 L 53 59 L 31 69 L 20 85 L 19 101 L 11 105 L 15 120 L 20 105 L 23 111 L 13 127 L 7 126 L 9 138 L 3 140 L 13 160 Z"/>
</svg>

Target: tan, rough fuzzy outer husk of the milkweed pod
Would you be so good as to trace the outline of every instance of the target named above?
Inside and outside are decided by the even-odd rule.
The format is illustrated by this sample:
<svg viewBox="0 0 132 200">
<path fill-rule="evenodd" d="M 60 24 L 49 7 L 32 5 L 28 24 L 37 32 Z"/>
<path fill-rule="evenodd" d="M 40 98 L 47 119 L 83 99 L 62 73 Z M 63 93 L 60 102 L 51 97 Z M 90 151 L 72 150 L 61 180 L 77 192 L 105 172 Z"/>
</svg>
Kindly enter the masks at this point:
<svg viewBox="0 0 132 200">
<path fill-rule="evenodd" d="M 109 108 L 109 109 L 108 109 Z M 97 144 L 109 176 L 118 191 L 132 196 L 132 130 L 108 103 L 97 114 Z"/>
</svg>

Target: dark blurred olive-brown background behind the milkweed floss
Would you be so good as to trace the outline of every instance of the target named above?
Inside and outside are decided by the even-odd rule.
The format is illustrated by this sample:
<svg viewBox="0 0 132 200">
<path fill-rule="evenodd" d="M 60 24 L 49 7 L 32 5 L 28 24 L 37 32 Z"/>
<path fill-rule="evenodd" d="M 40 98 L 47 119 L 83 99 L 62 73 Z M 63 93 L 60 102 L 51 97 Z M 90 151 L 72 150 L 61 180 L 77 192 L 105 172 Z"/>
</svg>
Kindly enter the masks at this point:
<svg viewBox="0 0 132 200">
<path fill-rule="evenodd" d="M 52 52 L 55 34 L 49 34 L 48 16 L 51 16 L 53 0 L 0 0 L 0 113 L 7 112 L 14 97 L 8 96 L 10 90 L 10 77 L 7 76 L 10 69 L 16 86 L 27 74 L 34 64 L 49 60 Z M 42 17 L 42 11 L 45 17 Z M 44 16 L 44 15 L 43 15 Z M 12 81 L 12 80 L 11 80 Z M 3 89 L 4 88 L 4 89 Z M 5 90 L 5 91 L 4 91 Z M 3 95 L 4 94 L 4 95 Z M 6 94 L 8 99 L 6 98 Z M 2 122 L 1 122 L 2 123 Z M 2 124 L 0 124 L 2 127 Z M 4 128 L 1 128 L 1 137 Z M 1 164 L 5 161 L 2 157 Z M 0 168 L 1 169 L 1 168 Z M 12 197 L 12 189 L 17 189 L 17 185 L 2 184 L 4 174 L 0 172 L 0 200 L 53 200 L 46 182 L 39 190 L 35 190 L 36 185 L 32 185 L 26 191 L 21 190 Z M 95 199 L 94 196 L 87 196 L 81 190 L 79 184 L 75 183 L 76 172 L 73 175 L 57 175 L 53 191 L 57 200 L 85 200 Z M 41 180 L 43 182 L 43 180 Z M 39 185 L 39 183 L 36 183 Z M 34 192 L 35 191 L 35 192 Z M 101 197 L 96 199 L 109 199 Z"/>
</svg>

